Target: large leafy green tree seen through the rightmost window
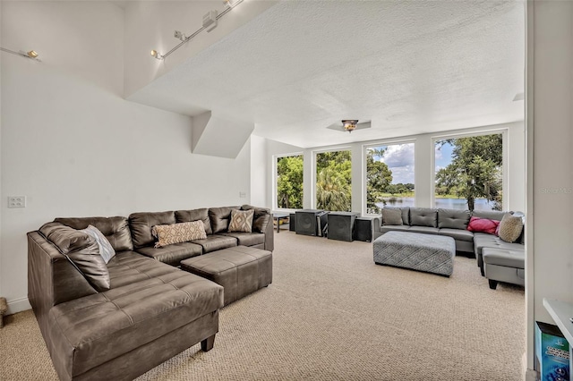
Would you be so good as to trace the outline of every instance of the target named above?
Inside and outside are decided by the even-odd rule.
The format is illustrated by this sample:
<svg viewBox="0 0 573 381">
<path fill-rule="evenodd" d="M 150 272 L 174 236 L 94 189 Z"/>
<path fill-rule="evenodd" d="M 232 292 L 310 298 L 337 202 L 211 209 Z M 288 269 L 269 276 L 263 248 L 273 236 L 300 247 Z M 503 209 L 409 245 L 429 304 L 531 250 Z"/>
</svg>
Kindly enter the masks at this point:
<svg viewBox="0 0 573 381">
<path fill-rule="evenodd" d="M 502 135 L 440 140 L 436 145 L 440 149 L 446 143 L 453 146 L 452 162 L 436 174 L 436 189 L 465 198 L 469 210 L 478 198 L 494 201 L 500 209 Z"/>
</svg>

